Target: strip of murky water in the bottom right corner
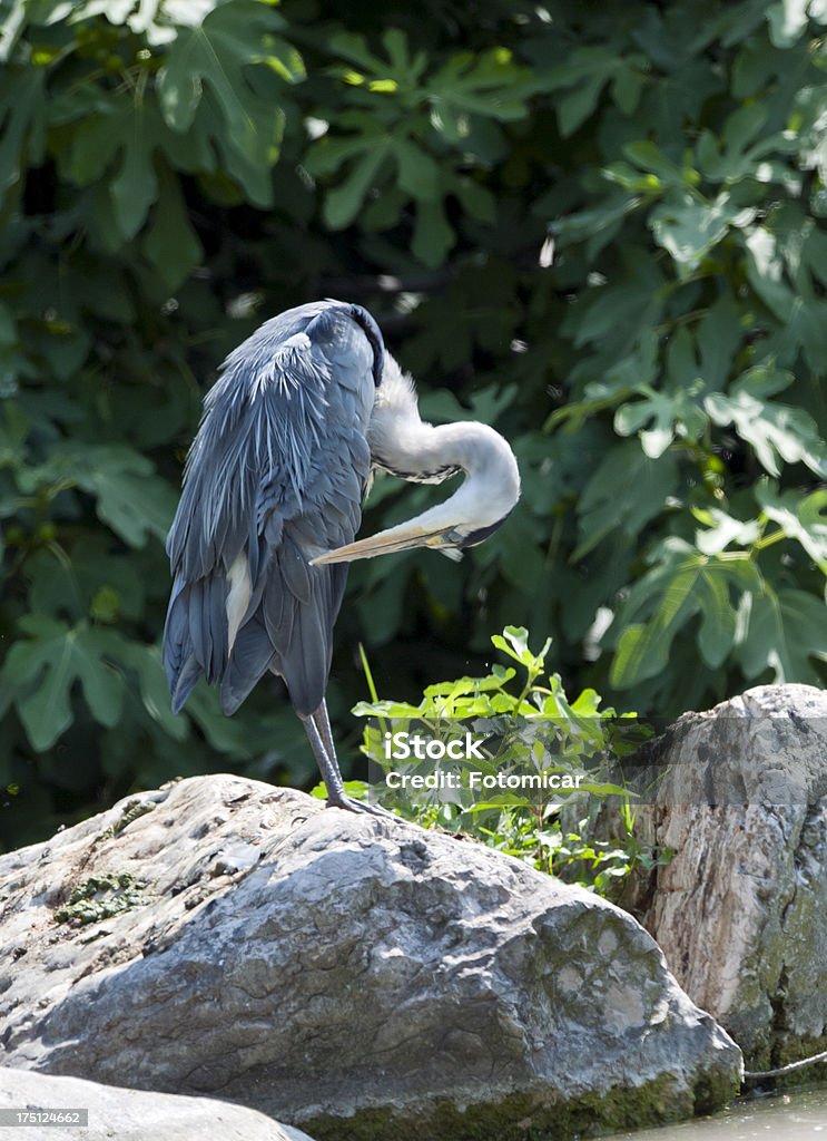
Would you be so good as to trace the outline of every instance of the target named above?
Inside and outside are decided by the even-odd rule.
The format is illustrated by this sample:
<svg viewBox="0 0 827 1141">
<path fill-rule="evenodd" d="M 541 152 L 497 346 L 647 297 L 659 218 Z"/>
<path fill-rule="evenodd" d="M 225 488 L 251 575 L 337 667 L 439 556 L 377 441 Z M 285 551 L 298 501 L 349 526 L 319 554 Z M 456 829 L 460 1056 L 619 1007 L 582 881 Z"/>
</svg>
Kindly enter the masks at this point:
<svg viewBox="0 0 827 1141">
<path fill-rule="evenodd" d="M 827 1141 L 827 1090 L 743 1101 L 714 1117 L 615 1136 L 617 1141 Z"/>
</svg>

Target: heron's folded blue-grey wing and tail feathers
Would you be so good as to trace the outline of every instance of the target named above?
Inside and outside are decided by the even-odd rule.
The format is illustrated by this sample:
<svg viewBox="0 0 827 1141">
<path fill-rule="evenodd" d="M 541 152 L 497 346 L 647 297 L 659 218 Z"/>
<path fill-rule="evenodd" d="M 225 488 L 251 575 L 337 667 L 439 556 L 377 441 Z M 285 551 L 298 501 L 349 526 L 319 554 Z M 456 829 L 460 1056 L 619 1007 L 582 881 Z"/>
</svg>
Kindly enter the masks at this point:
<svg viewBox="0 0 827 1141">
<path fill-rule="evenodd" d="M 293 313 L 300 329 L 276 318 L 228 358 L 187 461 L 167 541 L 175 710 L 202 673 L 223 678 L 227 712 L 268 669 L 300 712 L 324 696 L 345 575 L 308 560 L 359 527 L 376 347 L 353 307 Z"/>
</svg>

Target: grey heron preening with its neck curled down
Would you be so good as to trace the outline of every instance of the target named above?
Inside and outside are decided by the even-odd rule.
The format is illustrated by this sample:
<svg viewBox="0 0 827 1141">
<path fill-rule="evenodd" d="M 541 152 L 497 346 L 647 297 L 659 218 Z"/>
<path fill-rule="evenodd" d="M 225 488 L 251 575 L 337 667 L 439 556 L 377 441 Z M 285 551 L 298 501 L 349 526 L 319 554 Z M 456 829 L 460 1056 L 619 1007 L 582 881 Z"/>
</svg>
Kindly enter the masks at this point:
<svg viewBox="0 0 827 1141">
<path fill-rule="evenodd" d="M 371 469 L 466 478 L 444 503 L 355 540 Z M 202 674 L 221 682 L 227 714 L 280 675 L 329 803 L 374 811 L 345 793 L 325 704 L 346 564 L 414 547 L 457 556 L 518 497 L 514 453 L 492 428 L 423 422 L 367 310 L 319 301 L 267 321 L 224 361 L 185 466 L 166 544 L 173 710 Z"/>
</svg>

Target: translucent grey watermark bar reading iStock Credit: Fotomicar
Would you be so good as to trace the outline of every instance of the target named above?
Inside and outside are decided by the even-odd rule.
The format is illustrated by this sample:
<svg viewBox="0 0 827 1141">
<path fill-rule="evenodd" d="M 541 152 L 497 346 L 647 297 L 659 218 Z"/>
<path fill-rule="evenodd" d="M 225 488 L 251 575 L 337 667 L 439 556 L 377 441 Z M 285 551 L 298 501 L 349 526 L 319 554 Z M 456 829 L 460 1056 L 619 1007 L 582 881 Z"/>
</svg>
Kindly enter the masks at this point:
<svg viewBox="0 0 827 1141">
<path fill-rule="evenodd" d="M 388 808 L 805 804 L 827 721 L 795 717 L 371 718 L 367 796 Z M 453 806 L 448 809 L 448 806 Z"/>
</svg>

